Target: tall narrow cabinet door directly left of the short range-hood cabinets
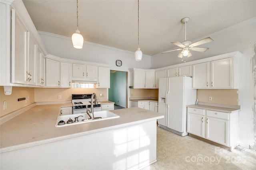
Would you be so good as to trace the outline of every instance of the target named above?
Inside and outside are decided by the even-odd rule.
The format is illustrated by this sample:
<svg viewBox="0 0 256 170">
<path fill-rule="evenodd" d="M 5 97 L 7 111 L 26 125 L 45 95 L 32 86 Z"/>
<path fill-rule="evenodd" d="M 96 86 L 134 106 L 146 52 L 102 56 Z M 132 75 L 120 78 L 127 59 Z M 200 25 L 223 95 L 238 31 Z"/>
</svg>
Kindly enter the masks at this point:
<svg viewBox="0 0 256 170">
<path fill-rule="evenodd" d="M 71 64 L 60 63 L 61 87 L 70 87 L 71 84 Z"/>
</svg>

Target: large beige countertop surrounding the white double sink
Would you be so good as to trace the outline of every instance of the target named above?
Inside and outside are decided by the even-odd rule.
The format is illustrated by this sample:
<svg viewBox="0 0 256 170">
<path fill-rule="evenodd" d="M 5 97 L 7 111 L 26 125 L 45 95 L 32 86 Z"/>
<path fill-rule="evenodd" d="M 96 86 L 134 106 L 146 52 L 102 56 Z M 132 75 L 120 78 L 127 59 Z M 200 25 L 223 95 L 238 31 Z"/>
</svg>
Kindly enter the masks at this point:
<svg viewBox="0 0 256 170">
<path fill-rule="evenodd" d="M 119 118 L 72 126 L 55 127 L 61 106 L 69 105 L 37 105 L 1 124 L 0 153 L 43 145 L 164 117 L 161 113 L 132 107 L 113 110 L 112 112 L 119 115 Z"/>
</svg>

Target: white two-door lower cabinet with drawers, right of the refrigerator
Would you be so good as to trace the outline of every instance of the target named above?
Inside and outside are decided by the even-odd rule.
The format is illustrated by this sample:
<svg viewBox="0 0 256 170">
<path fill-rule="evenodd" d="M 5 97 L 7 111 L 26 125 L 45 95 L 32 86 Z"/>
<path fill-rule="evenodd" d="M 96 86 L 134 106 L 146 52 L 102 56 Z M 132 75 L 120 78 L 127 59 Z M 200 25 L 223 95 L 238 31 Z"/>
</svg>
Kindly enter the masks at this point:
<svg viewBox="0 0 256 170">
<path fill-rule="evenodd" d="M 187 132 L 233 150 L 238 146 L 239 112 L 224 113 L 188 107 Z"/>
</svg>

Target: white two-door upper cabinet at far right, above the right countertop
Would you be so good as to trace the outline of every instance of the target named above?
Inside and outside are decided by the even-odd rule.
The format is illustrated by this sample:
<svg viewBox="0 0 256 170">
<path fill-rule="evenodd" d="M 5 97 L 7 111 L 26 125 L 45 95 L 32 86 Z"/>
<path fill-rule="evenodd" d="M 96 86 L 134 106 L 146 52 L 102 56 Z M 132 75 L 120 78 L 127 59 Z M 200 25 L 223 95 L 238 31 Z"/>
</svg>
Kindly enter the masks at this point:
<svg viewBox="0 0 256 170">
<path fill-rule="evenodd" d="M 193 65 L 193 88 L 238 88 L 235 58 L 215 60 Z"/>
</svg>

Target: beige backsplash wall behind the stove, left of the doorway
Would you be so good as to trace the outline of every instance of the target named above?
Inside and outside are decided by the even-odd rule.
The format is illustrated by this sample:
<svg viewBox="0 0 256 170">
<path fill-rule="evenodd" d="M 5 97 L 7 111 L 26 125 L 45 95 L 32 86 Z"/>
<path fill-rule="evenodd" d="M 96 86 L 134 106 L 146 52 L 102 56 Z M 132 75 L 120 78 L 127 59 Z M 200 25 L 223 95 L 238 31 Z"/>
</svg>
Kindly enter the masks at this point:
<svg viewBox="0 0 256 170">
<path fill-rule="evenodd" d="M 72 94 L 96 93 L 97 99 L 107 99 L 106 88 L 35 88 L 35 102 L 63 102 L 71 101 Z M 100 97 L 100 93 L 104 97 Z M 58 99 L 61 95 L 61 99 Z"/>
</svg>

